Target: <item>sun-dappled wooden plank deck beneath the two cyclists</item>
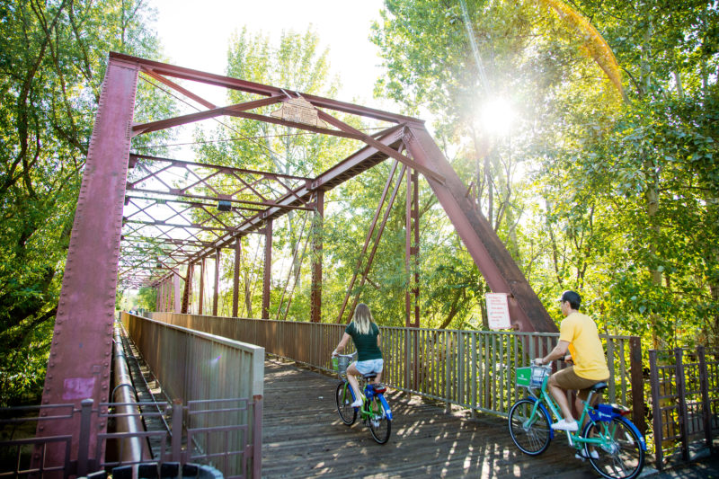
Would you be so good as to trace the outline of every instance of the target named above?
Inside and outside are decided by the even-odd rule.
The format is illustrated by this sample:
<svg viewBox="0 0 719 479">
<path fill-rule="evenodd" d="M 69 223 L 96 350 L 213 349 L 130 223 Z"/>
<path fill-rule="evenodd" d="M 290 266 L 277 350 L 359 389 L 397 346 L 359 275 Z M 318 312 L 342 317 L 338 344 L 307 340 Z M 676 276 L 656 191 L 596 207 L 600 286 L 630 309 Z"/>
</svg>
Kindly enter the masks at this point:
<svg viewBox="0 0 719 479">
<path fill-rule="evenodd" d="M 337 380 L 294 363 L 265 361 L 262 476 L 594 478 L 563 434 L 528 457 L 510 439 L 506 420 L 467 419 L 418 396 L 387 394 L 395 421 L 386 445 L 361 421 L 347 427 L 334 404 Z"/>
</svg>

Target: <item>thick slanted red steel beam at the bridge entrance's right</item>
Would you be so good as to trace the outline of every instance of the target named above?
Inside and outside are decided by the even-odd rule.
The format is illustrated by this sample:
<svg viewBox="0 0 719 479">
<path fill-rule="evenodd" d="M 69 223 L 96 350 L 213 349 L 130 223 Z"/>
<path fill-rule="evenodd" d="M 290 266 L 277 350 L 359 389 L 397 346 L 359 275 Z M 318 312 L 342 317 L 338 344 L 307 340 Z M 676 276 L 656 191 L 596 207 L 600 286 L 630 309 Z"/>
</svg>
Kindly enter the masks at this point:
<svg viewBox="0 0 719 479">
<path fill-rule="evenodd" d="M 502 240 L 494 233 L 484 216 L 466 199 L 466 185 L 459 179 L 427 130 L 408 127 L 404 143 L 414 161 L 436 169 L 445 177 L 445 184 L 429 177 L 427 182 L 489 287 L 493 292 L 510 295 L 512 322 L 519 325 L 520 331 L 557 332 L 545 306 L 529 287 L 527 279 L 519 271 Z"/>
</svg>

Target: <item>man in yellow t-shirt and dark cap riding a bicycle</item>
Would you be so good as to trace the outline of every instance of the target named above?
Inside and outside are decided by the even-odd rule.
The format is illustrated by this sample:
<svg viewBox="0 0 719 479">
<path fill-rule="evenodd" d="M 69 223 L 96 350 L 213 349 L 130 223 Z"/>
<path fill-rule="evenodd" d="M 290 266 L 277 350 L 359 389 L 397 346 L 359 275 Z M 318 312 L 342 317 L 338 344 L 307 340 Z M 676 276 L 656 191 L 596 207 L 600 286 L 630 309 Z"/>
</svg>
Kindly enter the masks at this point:
<svg viewBox="0 0 719 479">
<path fill-rule="evenodd" d="M 566 392 L 578 389 L 576 399 L 578 411 L 583 408 L 582 401 L 587 400 L 590 387 L 609 378 L 607 359 L 599 341 L 597 325 L 588 315 L 579 312 L 581 297 L 574 291 L 564 291 L 561 298 L 562 314 L 566 317 L 559 326 L 559 342 L 544 358 L 534 360 L 542 365 L 555 359 L 564 358 L 573 362 L 573 366 L 555 372 L 547 381 L 547 388 L 556 404 L 562 410 L 564 419 L 552 424 L 554 430 L 578 430 L 569 407 Z M 567 351 L 569 354 L 567 354 Z"/>
</svg>

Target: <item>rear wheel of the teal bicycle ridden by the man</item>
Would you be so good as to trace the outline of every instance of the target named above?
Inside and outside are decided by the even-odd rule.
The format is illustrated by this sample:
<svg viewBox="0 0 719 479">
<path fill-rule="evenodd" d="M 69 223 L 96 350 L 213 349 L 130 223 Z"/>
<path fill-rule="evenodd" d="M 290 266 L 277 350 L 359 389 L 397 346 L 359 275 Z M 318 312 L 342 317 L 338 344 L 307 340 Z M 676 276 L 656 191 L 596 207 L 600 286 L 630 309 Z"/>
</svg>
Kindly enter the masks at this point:
<svg viewBox="0 0 719 479">
<path fill-rule="evenodd" d="M 584 445 L 584 455 L 594 469 L 608 479 L 634 479 L 644 467 L 644 448 L 625 418 L 590 422 L 584 438 L 601 438 L 599 446 Z"/>
</svg>

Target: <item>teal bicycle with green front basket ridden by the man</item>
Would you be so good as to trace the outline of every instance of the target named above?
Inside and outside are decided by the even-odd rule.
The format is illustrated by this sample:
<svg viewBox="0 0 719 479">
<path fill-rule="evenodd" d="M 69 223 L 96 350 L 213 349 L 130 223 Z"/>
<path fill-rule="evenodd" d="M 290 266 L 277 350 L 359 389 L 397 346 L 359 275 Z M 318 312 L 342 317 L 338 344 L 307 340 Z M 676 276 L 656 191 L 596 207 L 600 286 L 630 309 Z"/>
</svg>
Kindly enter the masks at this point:
<svg viewBox="0 0 719 479">
<path fill-rule="evenodd" d="M 517 385 L 527 387 L 529 396 L 511 406 L 510 436 L 519 450 L 529 456 L 538 456 L 549 447 L 555 436 L 550 427 L 552 416 L 562 419 L 559 406 L 546 389 L 550 371 L 551 366 L 517 368 Z M 564 432 L 577 457 L 589 460 L 600 475 L 608 479 L 634 479 L 644 467 L 644 436 L 625 417 L 629 411 L 624 406 L 590 405 L 592 396 L 607 387 L 607 383 L 591 387 L 579 419 L 579 424 L 585 420 L 586 424 L 576 432 Z"/>
</svg>

